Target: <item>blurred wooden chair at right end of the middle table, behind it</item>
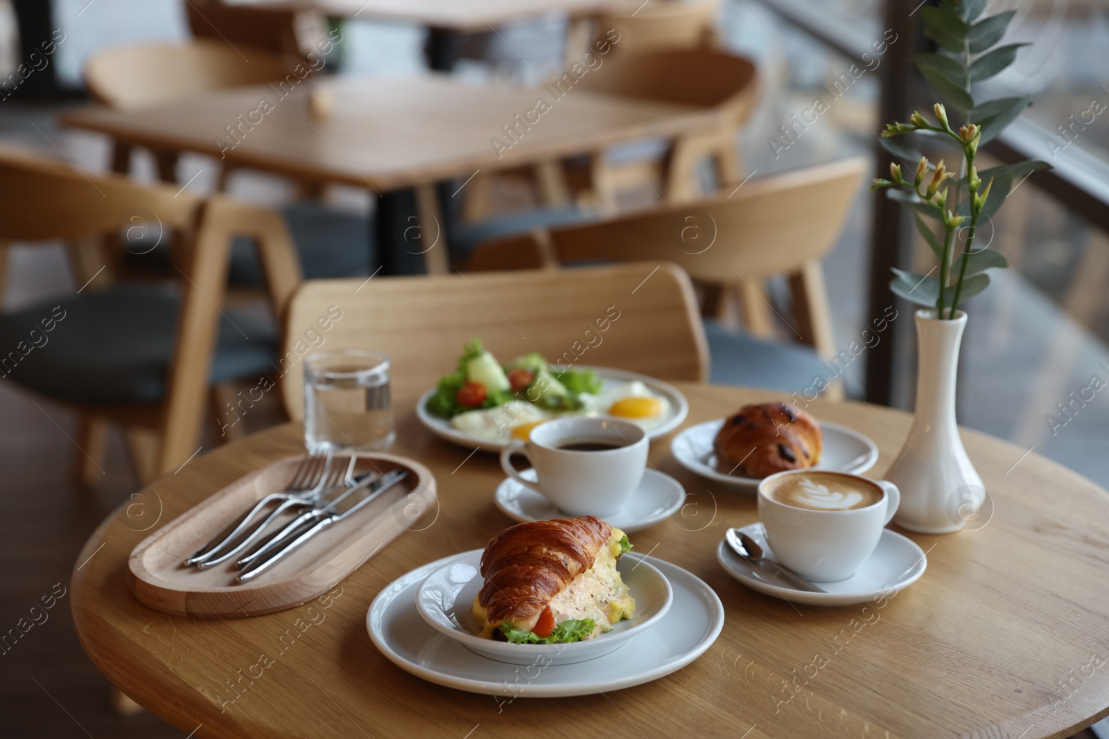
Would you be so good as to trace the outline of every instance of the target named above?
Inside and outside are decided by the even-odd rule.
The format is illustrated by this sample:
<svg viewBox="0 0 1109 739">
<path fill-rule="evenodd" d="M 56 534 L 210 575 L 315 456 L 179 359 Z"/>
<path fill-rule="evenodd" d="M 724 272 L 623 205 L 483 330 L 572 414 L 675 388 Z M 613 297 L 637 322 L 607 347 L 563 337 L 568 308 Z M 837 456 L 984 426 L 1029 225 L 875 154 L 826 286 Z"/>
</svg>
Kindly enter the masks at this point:
<svg viewBox="0 0 1109 739">
<path fill-rule="evenodd" d="M 598 151 L 592 156 L 589 181 L 603 212 L 615 209 L 618 193 L 642 187 L 643 182 L 660 183 L 659 195 L 670 204 L 706 194 L 699 177 L 699 166 L 706 157 L 714 167 L 718 187 L 734 186 L 742 179 L 735 133 L 750 117 L 759 96 L 757 73 L 751 60 L 706 49 L 625 52 L 606 60 L 579 85 L 609 95 L 715 107 L 721 113 L 719 127 L 672 138 L 660 158 L 644 162 L 631 154 L 614 157 L 608 150 Z"/>
</svg>

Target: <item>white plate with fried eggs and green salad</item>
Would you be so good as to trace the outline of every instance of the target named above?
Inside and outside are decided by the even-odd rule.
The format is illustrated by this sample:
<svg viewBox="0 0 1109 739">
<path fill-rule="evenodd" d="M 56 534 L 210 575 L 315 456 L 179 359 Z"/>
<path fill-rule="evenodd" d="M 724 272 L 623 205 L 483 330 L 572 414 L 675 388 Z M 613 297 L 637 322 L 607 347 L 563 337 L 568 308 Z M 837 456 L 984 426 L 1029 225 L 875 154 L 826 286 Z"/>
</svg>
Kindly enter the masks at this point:
<svg viewBox="0 0 1109 739">
<path fill-rule="evenodd" d="M 455 370 L 416 406 L 431 433 L 486 451 L 527 440 L 535 427 L 564 415 L 630 421 L 655 439 L 676 429 L 688 412 L 681 391 L 645 374 L 551 365 L 536 351 L 502 365 L 479 339 L 464 345 Z"/>
</svg>

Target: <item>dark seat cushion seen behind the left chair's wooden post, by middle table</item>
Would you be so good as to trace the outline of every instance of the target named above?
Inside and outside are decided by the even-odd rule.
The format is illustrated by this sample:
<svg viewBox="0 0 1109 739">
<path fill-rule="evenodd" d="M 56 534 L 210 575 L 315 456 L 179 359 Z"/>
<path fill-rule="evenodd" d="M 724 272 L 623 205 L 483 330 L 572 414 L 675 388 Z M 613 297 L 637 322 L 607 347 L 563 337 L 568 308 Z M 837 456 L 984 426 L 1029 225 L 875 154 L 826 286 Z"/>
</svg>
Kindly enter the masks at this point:
<svg viewBox="0 0 1109 739">
<path fill-rule="evenodd" d="M 304 201 L 282 208 L 301 256 L 305 279 L 369 275 L 373 252 L 370 218 Z M 262 268 L 254 248 L 236 238 L 231 254 L 233 285 L 262 285 Z"/>
</svg>

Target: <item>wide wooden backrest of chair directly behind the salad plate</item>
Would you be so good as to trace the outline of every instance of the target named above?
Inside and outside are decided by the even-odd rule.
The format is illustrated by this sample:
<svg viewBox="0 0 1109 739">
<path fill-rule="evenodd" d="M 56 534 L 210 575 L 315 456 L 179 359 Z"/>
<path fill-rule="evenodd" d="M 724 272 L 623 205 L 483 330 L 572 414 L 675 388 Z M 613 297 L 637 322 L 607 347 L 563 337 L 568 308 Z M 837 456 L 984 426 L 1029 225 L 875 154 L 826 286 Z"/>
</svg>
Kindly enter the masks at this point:
<svg viewBox="0 0 1109 739">
<path fill-rule="evenodd" d="M 516 274 L 304 283 L 282 357 L 285 409 L 304 417 L 304 358 L 317 349 L 389 357 L 394 402 L 411 403 L 480 338 L 501 361 L 550 361 L 704 380 L 708 349 L 689 276 L 659 261 Z M 324 327 L 327 327 L 326 330 Z"/>
</svg>

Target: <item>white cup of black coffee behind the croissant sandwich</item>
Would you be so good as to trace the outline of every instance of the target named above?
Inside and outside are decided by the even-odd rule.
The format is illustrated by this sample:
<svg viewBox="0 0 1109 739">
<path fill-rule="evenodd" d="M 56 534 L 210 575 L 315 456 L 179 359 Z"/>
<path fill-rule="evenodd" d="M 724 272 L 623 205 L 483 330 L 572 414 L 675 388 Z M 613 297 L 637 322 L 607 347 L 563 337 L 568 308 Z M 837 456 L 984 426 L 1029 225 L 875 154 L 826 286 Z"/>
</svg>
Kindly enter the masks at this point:
<svg viewBox="0 0 1109 739">
<path fill-rule="evenodd" d="M 601 451 L 561 449 L 563 444 L 613 444 Z M 527 442 L 512 441 L 500 452 L 505 473 L 528 490 L 546 495 L 570 515 L 612 515 L 639 487 L 647 470 L 650 441 L 634 423 L 601 418 L 562 418 L 540 423 Z M 525 480 L 512 466 L 513 454 L 523 454 L 536 470 L 536 482 Z"/>
</svg>

